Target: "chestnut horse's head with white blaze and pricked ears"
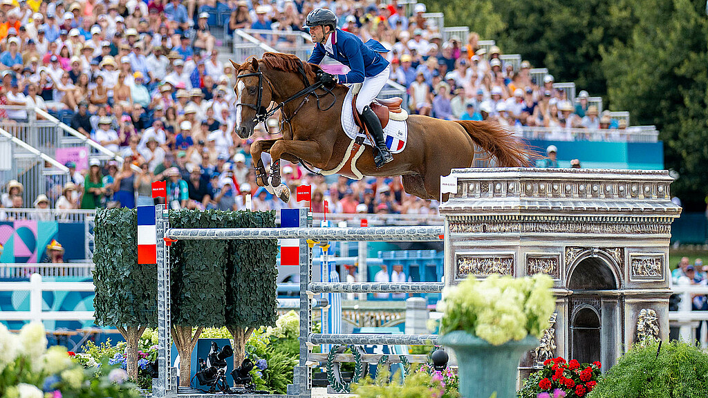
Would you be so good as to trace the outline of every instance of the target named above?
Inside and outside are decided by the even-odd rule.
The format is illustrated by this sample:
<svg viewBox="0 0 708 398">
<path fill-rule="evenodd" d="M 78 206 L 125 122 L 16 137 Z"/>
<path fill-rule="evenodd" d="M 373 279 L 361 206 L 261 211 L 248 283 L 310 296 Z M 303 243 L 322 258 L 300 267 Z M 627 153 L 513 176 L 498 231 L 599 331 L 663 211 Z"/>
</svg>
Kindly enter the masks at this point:
<svg viewBox="0 0 708 398">
<path fill-rule="evenodd" d="M 236 69 L 236 134 L 241 138 L 253 135 L 253 129 L 263 122 L 265 113 L 273 100 L 273 91 L 268 79 L 258 67 L 258 59 L 253 58 L 239 65 L 231 62 Z"/>
</svg>

